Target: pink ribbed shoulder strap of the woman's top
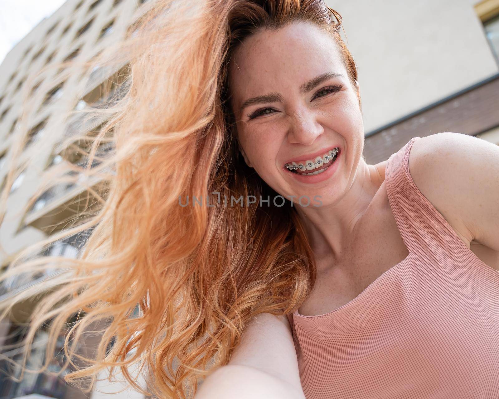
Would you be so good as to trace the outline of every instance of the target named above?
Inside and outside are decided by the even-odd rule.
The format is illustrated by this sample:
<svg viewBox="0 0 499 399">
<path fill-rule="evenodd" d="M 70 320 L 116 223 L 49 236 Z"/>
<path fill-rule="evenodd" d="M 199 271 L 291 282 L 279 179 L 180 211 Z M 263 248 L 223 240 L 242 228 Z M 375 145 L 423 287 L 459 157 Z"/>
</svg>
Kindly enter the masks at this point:
<svg viewBox="0 0 499 399">
<path fill-rule="evenodd" d="M 465 243 L 459 238 L 445 217 L 419 191 L 409 172 L 409 154 L 413 137 L 398 152 L 392 154 L 385 168 L 388 200 L 400 233 L 410 252 L 423 257 L 441 256 L 442 251 L 456 256 L 465 253 Z"/>
</svg>

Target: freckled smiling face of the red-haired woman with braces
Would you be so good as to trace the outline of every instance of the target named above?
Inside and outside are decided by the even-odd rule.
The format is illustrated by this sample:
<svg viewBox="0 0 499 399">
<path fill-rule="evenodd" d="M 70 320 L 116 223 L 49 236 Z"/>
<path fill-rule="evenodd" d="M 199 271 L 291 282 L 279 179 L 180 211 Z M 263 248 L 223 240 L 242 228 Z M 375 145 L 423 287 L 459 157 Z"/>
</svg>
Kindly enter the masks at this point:
<svg viewBox="0 0 499 399">
<path fill-rule="evenodd" d="M 260 31 L 235 52 L 229 85 L 245 161 L 272 189 L 286 199 L 295 196 L 293 203 L 306 196 L 316 206 L 314 196 L 327 205 L 348 190 L 362 156 L 364 126 L 355 86 L 331 36 L 302 21 Z M 334 162 L 317 158 L 327 161 L 324 155 L 336 147 Z M 285 164 L 293 161 L 305 170 L 290 172 Z M 313 161 L 314 169 L 304 161 Z"/>
</svg>

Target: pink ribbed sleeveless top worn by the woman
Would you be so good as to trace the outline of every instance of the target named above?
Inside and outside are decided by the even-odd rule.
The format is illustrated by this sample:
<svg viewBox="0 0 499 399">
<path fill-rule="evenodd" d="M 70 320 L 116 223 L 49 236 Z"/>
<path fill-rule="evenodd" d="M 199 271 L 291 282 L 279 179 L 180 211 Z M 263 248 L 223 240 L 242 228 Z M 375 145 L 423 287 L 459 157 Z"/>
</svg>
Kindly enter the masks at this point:
<svg viewBox="0 0 499 399">
<path fill-rule="evenodd" d="M 307 399 L 499 398 L 499 271 L 414 184 L 417 139 L 385 171 L 409 255 L 329 313 L 288 315 Z"/>
</svg>

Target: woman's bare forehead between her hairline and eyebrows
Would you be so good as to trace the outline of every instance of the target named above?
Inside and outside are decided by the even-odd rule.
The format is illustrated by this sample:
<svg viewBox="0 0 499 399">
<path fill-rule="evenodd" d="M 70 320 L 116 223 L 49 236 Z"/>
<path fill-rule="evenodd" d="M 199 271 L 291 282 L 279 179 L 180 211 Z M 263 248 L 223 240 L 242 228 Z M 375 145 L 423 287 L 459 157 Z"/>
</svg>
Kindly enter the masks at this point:
<svg viewBox="0 0 499 399">
<path fill-rule="evenodd" d="M 229 85 L 235 110 L 245 98 L 282 91 L 318 74 L 346 70 L 334 38 L 310 23 L 292 23 L 277 31 L 248 37 L 229 64 Z"/>
</svg>

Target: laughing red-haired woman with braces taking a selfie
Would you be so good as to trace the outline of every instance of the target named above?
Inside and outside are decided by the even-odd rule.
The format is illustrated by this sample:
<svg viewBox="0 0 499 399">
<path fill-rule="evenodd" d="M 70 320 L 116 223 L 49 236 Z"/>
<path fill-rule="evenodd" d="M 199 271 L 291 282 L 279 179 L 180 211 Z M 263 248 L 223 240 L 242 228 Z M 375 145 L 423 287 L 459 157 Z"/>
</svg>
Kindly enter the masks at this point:
<svg viewBox="0 0 499 399">
<path fill-rule="evenodd" d="M 116 342 L 69 377 L 142 356 L 166 398 L 208 374 L 196 399 L 498 396 L 499 149 L 446 132 L 367 165 L 336 11 L 170 3 L 58 309 L 112 315 Z"/>
</svg>

